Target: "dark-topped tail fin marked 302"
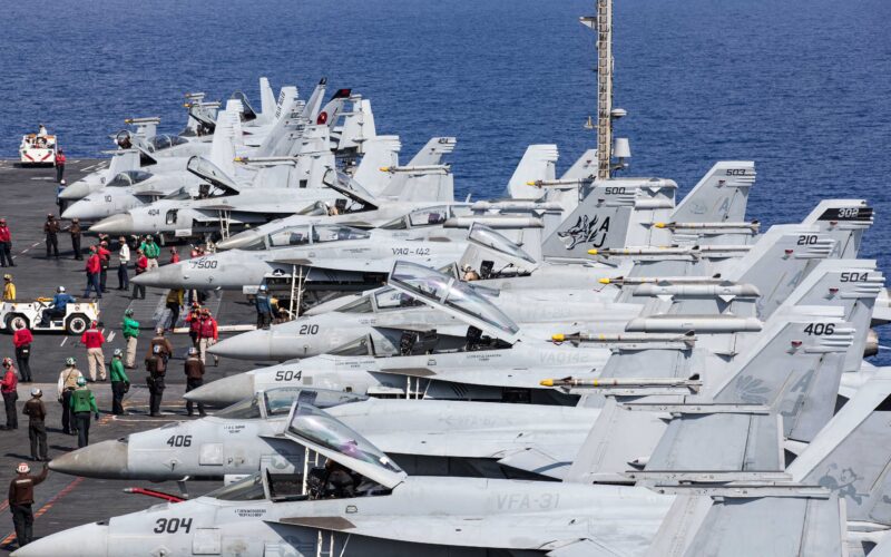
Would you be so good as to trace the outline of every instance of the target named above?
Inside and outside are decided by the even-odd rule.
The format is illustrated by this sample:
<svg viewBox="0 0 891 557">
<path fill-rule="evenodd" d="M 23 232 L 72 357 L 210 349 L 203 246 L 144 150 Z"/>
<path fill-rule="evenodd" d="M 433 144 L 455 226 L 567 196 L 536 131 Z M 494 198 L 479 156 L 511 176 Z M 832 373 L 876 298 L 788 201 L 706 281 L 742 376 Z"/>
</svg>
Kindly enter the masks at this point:
<svg viewBox="0 0 891 557">
<path fill-rule="evenodd" d="M 816 225 L 839 242 L 834 257 L 855 260 L 872 222 L 872 207 L 863 199 L 824 199 L 802 224 Z"/>
</svg>

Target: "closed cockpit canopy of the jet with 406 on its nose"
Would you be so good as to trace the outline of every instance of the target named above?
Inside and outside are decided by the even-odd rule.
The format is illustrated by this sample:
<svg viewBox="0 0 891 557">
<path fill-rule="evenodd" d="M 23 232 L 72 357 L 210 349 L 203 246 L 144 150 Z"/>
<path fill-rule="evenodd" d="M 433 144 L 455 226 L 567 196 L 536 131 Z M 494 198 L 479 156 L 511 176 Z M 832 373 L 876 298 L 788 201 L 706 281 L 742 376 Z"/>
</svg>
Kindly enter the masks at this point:
<svg viewBox="0 0 891 557">
<path fill-rule="evenodd" d="M 316 408 L 330 408 L 359 402 L 365 400 L 365 397 L 341 391 L 281 387 L 257 392 L 251 398 L 224 408 L 214 416 L 226 420 L 258 420 L 274 416 L 287 416 L 294 401 L 297 400 Z"/>
</svg>

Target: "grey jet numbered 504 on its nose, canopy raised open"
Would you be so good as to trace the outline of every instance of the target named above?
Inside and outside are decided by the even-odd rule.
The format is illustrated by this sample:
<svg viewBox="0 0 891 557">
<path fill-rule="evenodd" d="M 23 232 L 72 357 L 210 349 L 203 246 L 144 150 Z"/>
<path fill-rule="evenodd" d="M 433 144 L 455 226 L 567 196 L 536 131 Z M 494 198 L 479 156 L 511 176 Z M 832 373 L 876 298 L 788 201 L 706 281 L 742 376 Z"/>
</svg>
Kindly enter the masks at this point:
<svg viewBox="0 0 891 557">
<path fill-rule="evenodd" d="M 412 297 L 460 319 L 460 326 L 456 323 L 434 329 L 403 323 L 400 324 L 401 329 L 371 328 L 339 349 L 329 350 L 329 354 L 221 379 L 190 391 L 186 398 L 225 405 L 256 390 L 288 384 L 372 395 L 496 401 L 516 399 L 565 404 L 572 403 L 574 399 L 544 389 L 535 370 L 550 369 L 554 375 L 561 373 L 559 377 L 621 375 L 616 370 L 609 371 L 611 368 L 607 360 L 611 352 L 635 354 L 638 351 L 646 353 L 663 349 L 665 353 L 658 358 L 674 362 L 670 367 L 675 373 L 673 378 L 683 378 L 698 372 L 701 368 L 726 365 L 745 353 L 744 349 L 751 342 L 747 339 L 754 338 L 763 328 L 762 321 L 754 316 L 714 311 L 712 314 L 637 317 L 624 321 L 620 326 L 605 333 L 599 324 L 591 325 L 596 328 L 596 333 L 581 334 L 579 329 L 564 329 L 556 335 L 558 342 L 547 342 L 555 336 L 552 331 L 571 325 L 566 321 L 545 320 L 532 321 L 529 326 L 521 329 L 467 285 L 413 265 L 403 267 L 409 268 L 398 268 L 391 283 Z M 851 276 L 862 278 L 862 282 L 842 282 L 842 277 Z M 858 302 L 864 307 L 863 311 L 869 310 L 865 320 L 861 315 L 858 321 L 863 324 L 865 335 L 882 281 L 881 274 L 874 272 L 874 264 L 826 262 L 784 296 L 785 304 L 840 305 Z M 849 293 L 848 289 L 851 287 L 856 290 Z M 825 299 L 825 293 L 831 293 L 832 289 L 836 293 L 839 289 L 845 289 L 846 294 Z M 457 302 L 450 302 L 450 299 Z M 683 300 L 679 302 L 686 303 Z M 693 302 L 697 303 L 696 300 Z M 751 305 L 752 300 L 744 303 Z M 782 319 L 785 311 L 781 307 L 770 319 Z M 853 312 L 852 309 L 845 311 Z M 853 313 L 846 316 L 853 319 Z M 591 316 L 591 321 L 596 322 L 597 316 Z M 312 323 L 305 325 L 307 329 L 301 336 L 304 340 L 298 342 L 309 343 L 310 339 L 320 335 L 321 329 L 314 329 Z M 648 329 L 658 329 L 658 332 L 648 332 Z M 316 334 L 313 335 L 313 332 Z M 708 348 L 707 352 L 714 355 L 692 360 L 689 349 L 694 342 Z M 582 343 L 585 346 L 572 350 Z M 245 352 L 252 351 L 246 343 L 239 345 Z M 601 350 L 586 350 L 587 346 Z M 859 344 L 858 350 L 862 356 L 868 350 L 865 341 Z M 660 361 L 658 358 L 655 361 Z M 858 370 L 858 362 L 859 358 L 851 360 L 846 371 Z M 643 361 L 639 367 L 646 369 L 652 363 Z M 696 367 L 691 370 L 687 367 L 689 364 Z M 668 365 L 666 369 L 669 369 Z"/>
</svg>

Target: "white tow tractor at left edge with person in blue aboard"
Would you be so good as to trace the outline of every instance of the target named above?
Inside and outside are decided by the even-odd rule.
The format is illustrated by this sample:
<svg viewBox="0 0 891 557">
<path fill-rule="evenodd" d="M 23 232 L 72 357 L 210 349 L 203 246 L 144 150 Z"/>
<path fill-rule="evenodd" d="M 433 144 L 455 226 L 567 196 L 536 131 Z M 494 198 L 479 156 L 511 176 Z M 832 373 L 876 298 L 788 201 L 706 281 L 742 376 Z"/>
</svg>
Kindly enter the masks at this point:
<svg viewBox="0 0 891 557">
<path fill-rule="evenodd" d="M 96 302 L 68 302 L 65 315 L 43 322 L 43 312 L 50 307 L 51 297 L 38 297 L 33 302 L 3 302 L 0 306 L 0 329 L 13 333 L 28 328 L 31 331 L 66 332 L 81 334 L 90 323 L 99 320 Z"/>
</svg>

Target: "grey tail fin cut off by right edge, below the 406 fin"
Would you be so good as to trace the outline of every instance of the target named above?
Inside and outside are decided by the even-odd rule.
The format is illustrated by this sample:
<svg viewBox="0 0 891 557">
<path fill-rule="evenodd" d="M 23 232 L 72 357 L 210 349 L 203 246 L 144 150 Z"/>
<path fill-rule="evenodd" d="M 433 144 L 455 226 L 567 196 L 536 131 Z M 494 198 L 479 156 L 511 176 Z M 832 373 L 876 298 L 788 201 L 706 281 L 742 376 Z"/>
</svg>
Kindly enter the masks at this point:
<svg viewBox="0 0 891 557">
<path fill-rule="evenodd" d="M 845 499 L 848 519 L 891 526 L 891 368 L 856 391 L 789 466 L 794 481 Z"/>
</svg>

